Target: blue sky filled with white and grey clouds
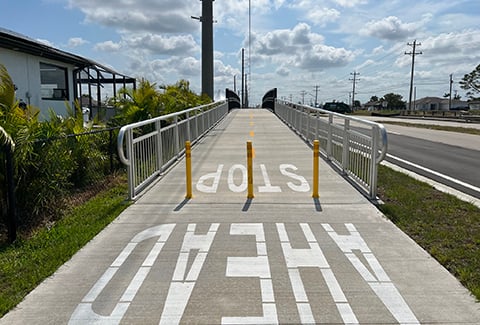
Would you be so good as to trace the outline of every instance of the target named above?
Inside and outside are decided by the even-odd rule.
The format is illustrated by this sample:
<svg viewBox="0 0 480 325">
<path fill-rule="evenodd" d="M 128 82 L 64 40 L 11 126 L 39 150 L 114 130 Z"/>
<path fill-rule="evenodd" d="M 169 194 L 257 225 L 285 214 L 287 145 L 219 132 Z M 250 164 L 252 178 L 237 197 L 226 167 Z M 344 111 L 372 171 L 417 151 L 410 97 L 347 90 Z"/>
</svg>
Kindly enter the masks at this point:
<svg viewBox="0 0 480 325">
<path fill-rule="evenodd" d="M 479 0 L 216 0 L 215 97 L 240 88 L 250 58 L 250 103 L 274 87 L 305 103 L 409 97 L 412 44 L 416 97 L 442 97 L 480 64 Z M 199 0 L 0 0 L 0 26 L 158 85 L 201 90 Z M 251 40 L 249 44 L 249 39 Z M 251 52 L 248 53 L 248 49 Z M 318 92 L 317 92 L 318 91 Z"/>
</svg>

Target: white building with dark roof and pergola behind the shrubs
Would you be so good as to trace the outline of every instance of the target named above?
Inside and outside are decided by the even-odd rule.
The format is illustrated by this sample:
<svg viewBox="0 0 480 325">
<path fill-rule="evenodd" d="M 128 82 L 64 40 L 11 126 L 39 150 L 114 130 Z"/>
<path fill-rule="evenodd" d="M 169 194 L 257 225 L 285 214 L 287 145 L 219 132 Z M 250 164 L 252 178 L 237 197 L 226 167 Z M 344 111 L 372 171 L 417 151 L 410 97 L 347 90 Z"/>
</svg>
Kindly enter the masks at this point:
<svg viewBox="0 0 480 325">
<path fill-rule="evenodd" d="M 17 99 L 40 108 L 43 117 L 49 109 L 65 116 L 66 103 L 73 107 L 80 98 L 82 106 L 87 106 L 93 115 L 95 109 L 98 111 L 105 85 L 116 96 L 119 88 L 135 87 L 136 83 L 134 78 L 97 62 L 3 28 L 0 28 L 0 64 L 7 68 L 15 84 Z M 88 102 L 83 101 L 85 97 Z"/>
</svg>

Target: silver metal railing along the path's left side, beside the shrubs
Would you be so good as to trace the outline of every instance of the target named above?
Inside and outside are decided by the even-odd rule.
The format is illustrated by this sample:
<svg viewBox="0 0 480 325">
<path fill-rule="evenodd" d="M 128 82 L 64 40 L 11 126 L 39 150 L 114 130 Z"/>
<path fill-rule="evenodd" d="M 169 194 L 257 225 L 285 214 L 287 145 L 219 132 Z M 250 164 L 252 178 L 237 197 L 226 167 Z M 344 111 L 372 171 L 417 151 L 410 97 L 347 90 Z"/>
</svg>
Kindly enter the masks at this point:
<svg viewBox="0 0 480 325">
<path fill-rule="evenodd" d="M 156 177 L 228 113 L 225 101 L 128 124 L 118 133 L 120 160 L 127 166 L 128 195 L 135 199 Z"/>
</svg>

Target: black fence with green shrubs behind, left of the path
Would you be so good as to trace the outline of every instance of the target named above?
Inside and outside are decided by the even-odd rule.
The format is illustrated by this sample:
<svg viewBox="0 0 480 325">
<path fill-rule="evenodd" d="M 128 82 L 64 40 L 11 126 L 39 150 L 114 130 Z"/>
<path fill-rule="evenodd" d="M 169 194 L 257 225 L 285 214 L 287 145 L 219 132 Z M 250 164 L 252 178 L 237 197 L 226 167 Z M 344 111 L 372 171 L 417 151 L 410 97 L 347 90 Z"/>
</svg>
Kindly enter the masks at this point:
<svg viewBox="0 0 480 325">
<path fill-rule="evenodd" d="M 0 224 L 0 237 L 7 230 L 12 242 L 17 225 L 49 222 L 85 191 L 105 187 L 122 168 L 115 150 L 118 129 L 25 142 L 15 150 L 0 147 L 0 217 L 6 223 Z"/>
</svg>

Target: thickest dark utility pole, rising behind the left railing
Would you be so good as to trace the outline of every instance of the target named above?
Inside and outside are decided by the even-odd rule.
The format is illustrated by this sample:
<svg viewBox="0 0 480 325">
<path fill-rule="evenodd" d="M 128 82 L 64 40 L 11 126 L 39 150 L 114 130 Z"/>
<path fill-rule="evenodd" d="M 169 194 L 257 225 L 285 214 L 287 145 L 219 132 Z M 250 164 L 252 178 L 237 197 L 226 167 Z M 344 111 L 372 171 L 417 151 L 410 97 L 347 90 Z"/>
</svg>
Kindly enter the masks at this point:
<svg viewBox="0 0 480 325">
<path fill-rule="evenodd" d="M 214 100 L 213 90 L 213 1 L 202 1 L 202 16 L 194 17 L 202 22 L 202 93 Z"/>
</svg>

